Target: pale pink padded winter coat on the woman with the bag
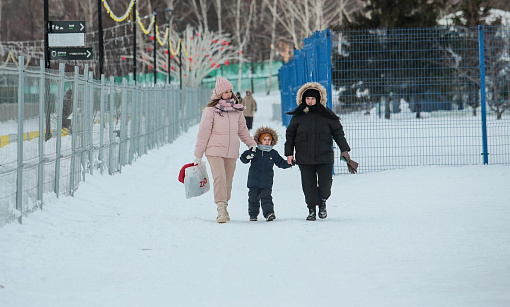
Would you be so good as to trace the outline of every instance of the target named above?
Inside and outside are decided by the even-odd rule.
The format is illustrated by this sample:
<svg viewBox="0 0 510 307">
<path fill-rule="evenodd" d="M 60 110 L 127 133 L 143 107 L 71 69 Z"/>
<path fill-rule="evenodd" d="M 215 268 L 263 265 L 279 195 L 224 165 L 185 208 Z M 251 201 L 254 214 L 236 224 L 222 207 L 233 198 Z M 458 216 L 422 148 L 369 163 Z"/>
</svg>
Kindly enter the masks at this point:
<svg viewBox="0 0 510 307">
<path fill-rule="evenodd" d="M 243 112 L 223 112 L 221 116 L 215 107 L 202 111 L 198 130 L 195 157 L 215 156 L 239 158 L 239 139 L 248 147 L 257 146 L 246 127 Z"/>
</svg>

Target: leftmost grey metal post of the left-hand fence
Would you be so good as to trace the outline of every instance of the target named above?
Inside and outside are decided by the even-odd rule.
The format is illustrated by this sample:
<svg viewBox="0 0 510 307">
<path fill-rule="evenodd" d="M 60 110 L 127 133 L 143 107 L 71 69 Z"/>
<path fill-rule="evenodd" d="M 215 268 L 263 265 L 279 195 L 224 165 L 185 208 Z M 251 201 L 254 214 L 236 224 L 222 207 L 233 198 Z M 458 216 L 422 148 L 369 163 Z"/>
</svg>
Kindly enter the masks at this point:
<svg viewBox="0 0 510 307">
<path fill-rule="evenodd" d="M 18 58 L 18 163 L 16 182 L 16 209 L 20 215 L 18 222 L 23 222 L 23 120 L 25 118 L 25 57 Z"/>
</svg>

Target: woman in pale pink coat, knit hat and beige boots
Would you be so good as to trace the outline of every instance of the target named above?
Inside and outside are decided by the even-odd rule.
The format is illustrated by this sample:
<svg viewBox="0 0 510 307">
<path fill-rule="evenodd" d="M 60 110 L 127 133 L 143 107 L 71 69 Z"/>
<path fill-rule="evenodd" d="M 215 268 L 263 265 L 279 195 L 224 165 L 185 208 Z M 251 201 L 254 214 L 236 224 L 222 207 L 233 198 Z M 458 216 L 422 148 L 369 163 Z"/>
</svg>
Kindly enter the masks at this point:
<svg viewBox="0 0 510 307">
<path fill-rule="evenodd" d="M 205 153 L 213 177 L 214 202 L 218 205 L 218 223 L 230 221 L 227 212 L 228 201 L 232 191 L 232 181 L 239 158 L 239 146 L 243 141 L 255 149 L 257 144 L 250 137 L 246 120 L 243 116 L 244 106 L 233 95 L 233 86 L 227 79 L 218 77 L 211 96 L 211 101 L 202 112 L 197 144 L 195 145 L 194 163 L 202 161 Z"/>
</svg>

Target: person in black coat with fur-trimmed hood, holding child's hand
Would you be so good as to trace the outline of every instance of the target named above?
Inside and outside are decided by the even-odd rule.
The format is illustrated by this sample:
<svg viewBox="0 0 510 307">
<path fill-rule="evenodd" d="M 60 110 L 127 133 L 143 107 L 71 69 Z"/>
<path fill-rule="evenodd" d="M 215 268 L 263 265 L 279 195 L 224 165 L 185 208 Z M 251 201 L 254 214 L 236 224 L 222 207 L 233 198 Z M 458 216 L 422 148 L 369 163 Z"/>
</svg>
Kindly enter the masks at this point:
<svg viewBox="0 0 510 307">
<path fill-rule="evenodd" d="M 326 89 L 316 82 L 304 84 L 297 92 L 298 107 L 292 115 L 286 132 L 285 156 L 301 171 L 301 186 L 308 207 L 307 220 L 315 221 L 317 206 L 319 218 L 327 217 L 326 200 L 331 195 L 333 182 L 333 140 L 341 150 L 341 158 L 350 161 L 345 134 L 338 116 L 326 106 Z"/>
</svg>

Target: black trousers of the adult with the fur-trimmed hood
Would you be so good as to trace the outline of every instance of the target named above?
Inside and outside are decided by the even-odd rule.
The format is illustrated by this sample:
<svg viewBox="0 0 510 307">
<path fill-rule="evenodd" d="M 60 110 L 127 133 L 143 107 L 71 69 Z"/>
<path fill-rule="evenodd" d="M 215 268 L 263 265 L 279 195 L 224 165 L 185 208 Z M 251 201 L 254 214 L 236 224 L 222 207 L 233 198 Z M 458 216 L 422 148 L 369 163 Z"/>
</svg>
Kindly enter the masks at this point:
<svg viewBox="0 0 510 307">
<path fill-rule="evenodd" d="M 300 164 L 299 170 L 306 205 L 308 208 L 315 208 L 321 199 L 326 200 L 331 196 L 333 163 Z"/>
</svg>

